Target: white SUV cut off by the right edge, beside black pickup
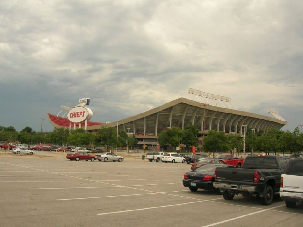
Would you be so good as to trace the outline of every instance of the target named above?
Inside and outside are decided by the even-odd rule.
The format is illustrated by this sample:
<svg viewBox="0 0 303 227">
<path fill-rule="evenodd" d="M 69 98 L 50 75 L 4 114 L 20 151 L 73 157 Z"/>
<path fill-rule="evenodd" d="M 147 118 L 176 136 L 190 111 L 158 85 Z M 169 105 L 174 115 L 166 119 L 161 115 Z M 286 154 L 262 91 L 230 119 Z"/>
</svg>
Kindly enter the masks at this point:
<svg viewBox="0 0 303 227">
<path fill-rule="evenodd" d="M 287 208 L 303 202 L 303 158 L 291 159 L 280 180 L 280 196 Z"/>
</svg>

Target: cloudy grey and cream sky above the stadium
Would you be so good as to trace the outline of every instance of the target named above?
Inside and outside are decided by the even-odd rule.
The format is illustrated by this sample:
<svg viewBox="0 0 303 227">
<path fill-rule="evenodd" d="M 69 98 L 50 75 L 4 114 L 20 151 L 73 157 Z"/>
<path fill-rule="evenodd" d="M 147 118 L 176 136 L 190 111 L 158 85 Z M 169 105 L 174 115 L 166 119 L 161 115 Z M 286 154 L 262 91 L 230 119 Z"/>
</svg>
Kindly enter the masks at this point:
<svg viewBox="0 0 303 227">
<path fill-rule="evenodd" d="M 188 87 L 303 124 L 303 2 L 0 1 L 0 125 L 52 130 L 47 113 L 89 97 L 115 121 Z"/>
</svg>

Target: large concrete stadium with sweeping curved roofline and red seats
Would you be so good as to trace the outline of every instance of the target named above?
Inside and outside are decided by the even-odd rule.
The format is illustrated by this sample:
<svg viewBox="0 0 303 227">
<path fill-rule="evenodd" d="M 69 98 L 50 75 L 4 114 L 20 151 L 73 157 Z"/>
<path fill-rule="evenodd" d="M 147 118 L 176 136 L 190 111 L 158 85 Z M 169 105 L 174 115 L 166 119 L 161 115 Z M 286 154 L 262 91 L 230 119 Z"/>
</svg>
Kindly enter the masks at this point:
<svg viewBox="0 0 303 227">
<path fill-rule="evenodd" d="M 220 101 L 220 98 L 218 100 Z M 228 99 L 225 99 L 225 101 L 228 104 Z M 65 106 L 61 106 L 61 108 L 67 111 L 72 109 Z M 203 137 L 211 129 L 218 132 L 244 134 L 244 130 L 247 128 L 255 132 L 261 130 L 267 132 L 271 129 L 280 129 L 287 124 L 287 121 L 279 116 L 276 111 L 269 109 L 268 112 L 275 118 L 210 104 L 201 104 L 200 101 L 181 97 L 120 121 L 99 123 L 85 120 L 85 129 L 94 132 L 102 127 L 115 127 L 115 129 L 118 128 L 118 133 L 124 130 L 129 135 L 135 135 L 139 141 L 138 146 L 141 146 L 141 148 L 145 144 L 150 149 L 158 144 L 157 137 L 162 130 L 171 127 L 179 127 L 184 130 L 186 125 L 192 124 L 198 129 L 198 147 L 201 147 Z M 64 115 L 60 117 L 59 113 L 57 115 L 48 113 L 48 120 L 55 128 L 69 127 L 71 130 L 82 127 L 84 123 L 84 121 L 71 122 Z"/>
</svg>

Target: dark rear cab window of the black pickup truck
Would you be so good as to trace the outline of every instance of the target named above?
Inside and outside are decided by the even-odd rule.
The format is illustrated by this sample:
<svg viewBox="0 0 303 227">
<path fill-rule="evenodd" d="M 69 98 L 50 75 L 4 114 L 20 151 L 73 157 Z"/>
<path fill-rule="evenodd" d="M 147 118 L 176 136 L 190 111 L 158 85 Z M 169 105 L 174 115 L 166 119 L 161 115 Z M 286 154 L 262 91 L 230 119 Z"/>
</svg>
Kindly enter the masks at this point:
<svg viewBox="0 0 303 227">
<path fill-rule="evenodd" d="M 277 160 L 275 157 L 271 156 L 256 156 L 256 157 L 247 157 L 244 165 L 244 168 L 252 169 L 278 169 Z"/>
</svg>

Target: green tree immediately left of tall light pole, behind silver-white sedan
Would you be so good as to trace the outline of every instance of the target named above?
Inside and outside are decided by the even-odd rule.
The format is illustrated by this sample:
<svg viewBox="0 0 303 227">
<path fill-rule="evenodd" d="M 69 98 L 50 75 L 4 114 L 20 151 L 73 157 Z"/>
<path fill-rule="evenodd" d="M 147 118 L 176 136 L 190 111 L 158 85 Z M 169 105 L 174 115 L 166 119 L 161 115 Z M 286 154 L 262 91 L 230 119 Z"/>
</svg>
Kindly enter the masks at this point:
<svg viewBox="0 0 303 227">
<path fill-rule="evenodd" d="M 95 143 L 99 144 L 101 146 L 107 146 L 107 152 L 109 149 L 109 146 L 115 146 L 116 145 L 116 136 L 117 131 L 115 128 L 101 128 L 97 131 L 97 135 L 95 137 Z"/>
</svg>

